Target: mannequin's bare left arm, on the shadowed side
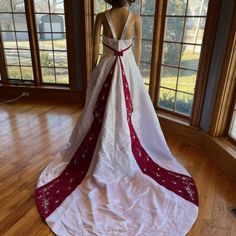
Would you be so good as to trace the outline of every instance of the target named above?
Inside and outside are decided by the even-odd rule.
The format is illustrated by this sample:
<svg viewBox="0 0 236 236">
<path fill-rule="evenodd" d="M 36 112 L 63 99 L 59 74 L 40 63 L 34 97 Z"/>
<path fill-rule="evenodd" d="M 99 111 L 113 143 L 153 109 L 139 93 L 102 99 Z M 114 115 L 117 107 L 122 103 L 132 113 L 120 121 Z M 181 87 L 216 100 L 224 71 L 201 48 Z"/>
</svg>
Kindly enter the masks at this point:
<svg viewBox="0 0 236 236">
<path fill-rule="evenodd" d="M 98 14 L 95 20 L 95 26 L 94 26 L 94 32 L 93 32 L 93 57 L 92 57 L 93 68 L 92 69 L 96 67 L 97 61 L 98 61 L 101 26 L 102 26 L 102 13 Z"/>
</svg>

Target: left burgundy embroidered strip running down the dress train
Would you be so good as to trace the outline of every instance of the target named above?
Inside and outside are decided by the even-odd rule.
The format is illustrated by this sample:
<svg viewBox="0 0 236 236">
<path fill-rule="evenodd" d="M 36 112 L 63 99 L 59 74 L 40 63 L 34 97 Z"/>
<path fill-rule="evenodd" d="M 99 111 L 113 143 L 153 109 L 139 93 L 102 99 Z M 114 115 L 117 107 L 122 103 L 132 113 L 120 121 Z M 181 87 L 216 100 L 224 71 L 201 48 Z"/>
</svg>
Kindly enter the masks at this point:
<svg viewBox="0 0 236 236">
<path fill-rule="evenodd" d="M 117 58 L 98 95 L 91 127 L 71 158 L 70 163 L 60 176 L 37 188 L 35 191 L 36 205 L 44 220 L 75 190 L 86 176 L 102 127 L 103 115 L 116 62 Z"/>
</svg>

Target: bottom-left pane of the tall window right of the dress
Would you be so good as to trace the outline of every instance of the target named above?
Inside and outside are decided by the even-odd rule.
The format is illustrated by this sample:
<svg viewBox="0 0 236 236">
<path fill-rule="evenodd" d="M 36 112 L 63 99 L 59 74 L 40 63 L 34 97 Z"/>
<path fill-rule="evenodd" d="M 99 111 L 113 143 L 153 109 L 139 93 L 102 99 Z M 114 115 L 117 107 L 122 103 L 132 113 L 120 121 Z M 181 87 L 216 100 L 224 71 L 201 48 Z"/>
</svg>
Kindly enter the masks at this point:
<svg viewBox="0 0 236 236">
<path fill-rule="evenodd" d="M 175 91 L 160 88 L 158 105 L 168 110 L 174 110 Z"/>
</svg>

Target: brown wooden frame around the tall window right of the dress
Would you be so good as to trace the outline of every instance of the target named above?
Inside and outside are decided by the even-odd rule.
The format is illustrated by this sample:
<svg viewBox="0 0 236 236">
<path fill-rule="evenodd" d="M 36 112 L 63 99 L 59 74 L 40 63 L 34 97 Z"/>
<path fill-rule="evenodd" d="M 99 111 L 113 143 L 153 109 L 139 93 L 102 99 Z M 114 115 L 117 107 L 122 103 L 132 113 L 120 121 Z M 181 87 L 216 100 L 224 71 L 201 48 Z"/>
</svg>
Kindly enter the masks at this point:
<svg viewBox="0 0 236 236">
<path fill-rule="evenodd" d="M 199 58 L 199 67 L 196 78 L 192 115 L 185 116 L 183 114 L 168 111 L 164 108 L 158 107 L 157 101 L 160 86 L 161 59 L 164 44 L 167 0 L 160 0 L 156 3 L 156 17 L 154 24 L 153 53 L 149 93 L 157 112 L 164 113 L 167 116 L 174 116 L 175 118 L 179 118 L 180 120 L 185 120 L 189 123 L 189 125 L 194 127 L 199 127 L 200 123 L 203 97 L 206 87 L 208 71 L 210 67 L 211 54 L 213 51 L 213 43 L 211 42 L 214 42 L 217 26 L 217 21 L 215 19 L 218 18 L 217 16 L 219 14 L 219 9 L 220 0 L 209 0 L 205 31 L 202 39 L 202 50 Z"/>
</svg>

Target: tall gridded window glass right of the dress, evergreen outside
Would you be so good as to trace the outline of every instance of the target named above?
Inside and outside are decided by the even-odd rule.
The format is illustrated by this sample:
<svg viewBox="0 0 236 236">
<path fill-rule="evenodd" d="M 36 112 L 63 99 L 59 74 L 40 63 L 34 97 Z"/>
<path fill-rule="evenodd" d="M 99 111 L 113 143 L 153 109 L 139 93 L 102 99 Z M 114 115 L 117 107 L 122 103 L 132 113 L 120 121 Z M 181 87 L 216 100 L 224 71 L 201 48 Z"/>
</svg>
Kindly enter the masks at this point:
<svg viewBox="0 0 236 236">
<path fill-rule="evenodd" d="M 192 113 L 208 0 L 168 0 L 157 107 L 189 118 Z"/>
</svg>

